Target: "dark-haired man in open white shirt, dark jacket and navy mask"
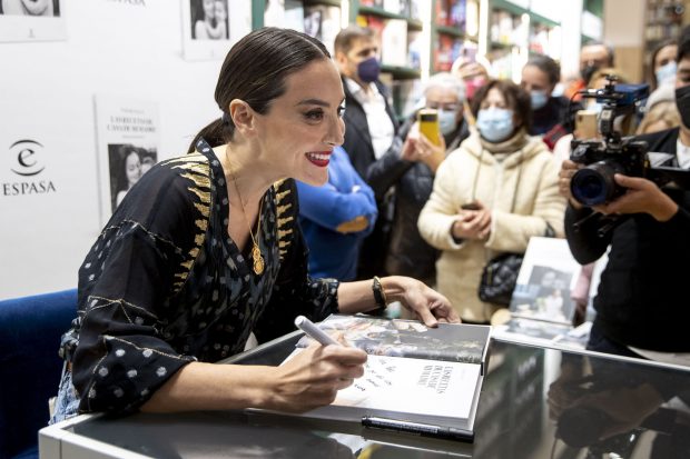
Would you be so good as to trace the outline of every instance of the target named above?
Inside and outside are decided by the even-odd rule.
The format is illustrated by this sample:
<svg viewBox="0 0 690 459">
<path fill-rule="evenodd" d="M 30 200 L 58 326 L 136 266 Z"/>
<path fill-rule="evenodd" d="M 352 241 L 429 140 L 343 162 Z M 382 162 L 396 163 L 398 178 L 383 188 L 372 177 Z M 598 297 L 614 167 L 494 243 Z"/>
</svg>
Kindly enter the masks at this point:
<svg viewBox="0 0 690 459">
<path fill-rule="evenodd" d="M 357 173 L 368 181 L 367 170 L 386 152 L 398 154 L 403 142 L 396 137 L 398 124 L 388 101 L 388 89 L 378 80 L 378 42 L 372 29 L 349 26 L 334 42 L 335 62 L 345 90 L 345 142 L 343 148 Z M 357 278 L 384 272 L 385 248 L 391 227 L 393 202 L 377 200 L 378 219 L 374 231 L 363 241 Z"/>
</svg>

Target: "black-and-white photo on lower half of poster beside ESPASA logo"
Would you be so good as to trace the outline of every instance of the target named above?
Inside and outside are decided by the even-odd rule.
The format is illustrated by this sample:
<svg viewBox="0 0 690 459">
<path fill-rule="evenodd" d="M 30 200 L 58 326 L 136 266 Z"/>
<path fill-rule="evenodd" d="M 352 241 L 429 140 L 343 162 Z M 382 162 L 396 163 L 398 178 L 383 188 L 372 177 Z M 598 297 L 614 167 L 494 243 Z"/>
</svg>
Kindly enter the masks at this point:
<svg viewBox="0 0 690 459">
<path fill-rule="evenodd" d="M 137 147 L 131 143 L 108 144 L 110 170 L 110 201 L 115 211 L 125 196 L 137 184 L 157 161 L 155 148 Z"/>
</svg>

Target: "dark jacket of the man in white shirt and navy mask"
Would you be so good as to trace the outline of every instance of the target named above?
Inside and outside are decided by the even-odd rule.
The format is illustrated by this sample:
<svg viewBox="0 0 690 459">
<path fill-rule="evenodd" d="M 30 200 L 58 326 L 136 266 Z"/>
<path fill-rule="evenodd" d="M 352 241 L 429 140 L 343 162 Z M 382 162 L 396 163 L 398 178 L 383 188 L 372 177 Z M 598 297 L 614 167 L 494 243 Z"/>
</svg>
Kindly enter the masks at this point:
<svg viewBox="0 0 690 459">
<path fill-rule="evenodd" d="M 388 117 L 391 117 L 395 133 L 397 134 L 398 123 L 391 108 L 391 103 L 388 102 L 388 90 L 379 81 L 376 81 L 376 87 L 386 101 L 386 112 Z M 376 157 L 374 156 L 374 147 L 366 121 L 366 113 L 362 104 L 355 99 L 352 92 L 349 92 L 345 80 L 343 80 L 343 89 L 345 90 L 345 114 L 343 117 L 345 121 L 345 142 L 343 143 L 343 148 L 347 151 L 349 160 L 357 173 L 367 181 L 367 170 L 371 164 L 376 162 Z M 393 143 L 387 152 L 400 154 L 402 146 L 401 139 L 397 136 L 393 136 Z M 387 198 L 390 198 L 390 196 Z M 386 273 L 384 260 L 388 247 L 391 209 L 393 203 L 390 199 L 377 196 L 376 204 L 378 207 L 378 218 L 376 219 L 372 233 L 362 242 L 357 279 L 368 279 L 373 276 L 384 276 Z"/>
</svg>

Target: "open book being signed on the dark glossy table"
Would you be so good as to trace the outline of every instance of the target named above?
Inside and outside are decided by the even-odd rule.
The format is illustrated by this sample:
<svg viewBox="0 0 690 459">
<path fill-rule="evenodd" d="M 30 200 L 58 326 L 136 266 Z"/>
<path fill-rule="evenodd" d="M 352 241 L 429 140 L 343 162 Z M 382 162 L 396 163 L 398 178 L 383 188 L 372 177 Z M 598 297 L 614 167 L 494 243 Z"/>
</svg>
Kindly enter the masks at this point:
<svg viewBox="0 0 690 459">
<path fill-rule="evenodd" d="M 487 365 L 491 327 L 332 315 L 326 332 L 368 355 L 364 375 L 329 406 L 302 415 L 361 422 L 365 417 L 472 431 Z M 288 361 L 308 346 L 303 337 Z M 284 361 L 284 362 L 285 362 Z"/>
</svg>

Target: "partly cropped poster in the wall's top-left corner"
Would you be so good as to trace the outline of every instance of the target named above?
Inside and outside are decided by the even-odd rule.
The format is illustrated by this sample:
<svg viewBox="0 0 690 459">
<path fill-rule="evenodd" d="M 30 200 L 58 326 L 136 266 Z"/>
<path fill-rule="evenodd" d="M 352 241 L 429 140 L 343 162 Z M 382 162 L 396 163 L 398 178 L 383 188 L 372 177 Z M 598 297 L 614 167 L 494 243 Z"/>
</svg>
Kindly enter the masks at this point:
<svg viewBox="0 0 690 459">
<path fill-rule="evenodd" d="M 0 42 L 67 40 L 65 0 L 0 0 Z"/>
</svg>

